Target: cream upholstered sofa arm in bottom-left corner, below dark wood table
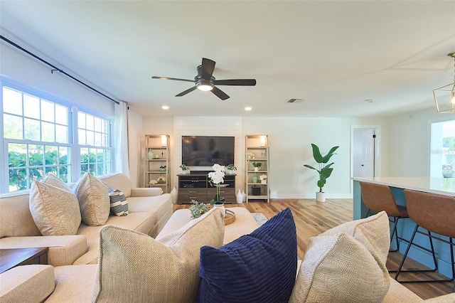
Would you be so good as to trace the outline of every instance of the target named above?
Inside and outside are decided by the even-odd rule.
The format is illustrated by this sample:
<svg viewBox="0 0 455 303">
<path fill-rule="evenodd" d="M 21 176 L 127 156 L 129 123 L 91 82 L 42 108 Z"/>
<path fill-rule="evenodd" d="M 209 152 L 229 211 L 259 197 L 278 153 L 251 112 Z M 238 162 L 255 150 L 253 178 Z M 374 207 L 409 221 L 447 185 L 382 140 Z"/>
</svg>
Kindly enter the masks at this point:
<svg viewBox="0 0 455 303">
<path fill-rule="evenodd" d="M 23 265 L 0 274 L 0 302 L 43 302 L 55 289 L 50 265 Z"/>
</svg>

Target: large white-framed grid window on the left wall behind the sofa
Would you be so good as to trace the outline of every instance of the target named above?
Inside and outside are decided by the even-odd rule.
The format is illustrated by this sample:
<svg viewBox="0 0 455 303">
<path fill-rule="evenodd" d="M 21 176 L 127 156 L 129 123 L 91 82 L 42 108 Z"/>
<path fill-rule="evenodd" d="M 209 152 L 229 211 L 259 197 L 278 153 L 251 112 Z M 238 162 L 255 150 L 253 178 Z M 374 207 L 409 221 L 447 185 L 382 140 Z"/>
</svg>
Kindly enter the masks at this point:
<svg viewBox="0 0 455 303">
<path fill-rule="evenodd" d="M 41 181 L 48 174 L 68 183 L 87 171 L 111 172 L 109 119 L 16 85 L 2 85 L 2 104 L 8 167 L 1 170 L 0 179 L 9 183 L 3 181 L 0 192 L 30 188 L 33 180 Z M 2 161 L 6 165 L 6 159 Z"/>
</svg>

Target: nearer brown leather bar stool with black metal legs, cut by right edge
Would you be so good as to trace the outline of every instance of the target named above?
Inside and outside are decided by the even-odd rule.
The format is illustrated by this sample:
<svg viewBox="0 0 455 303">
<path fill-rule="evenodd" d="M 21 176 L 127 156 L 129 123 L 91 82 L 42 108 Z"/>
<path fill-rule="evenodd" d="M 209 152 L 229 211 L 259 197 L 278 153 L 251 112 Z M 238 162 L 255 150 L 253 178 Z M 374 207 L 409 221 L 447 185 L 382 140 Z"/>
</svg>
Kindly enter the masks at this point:
<svg viewBox="0 0 455 303">
<path fill-rule="evenodd" d="M 439 240 L 443 243 L 450 245 L 450 255 L 451 255 L 451 269 L 452 277 L 451 279 L 446 280 L 419 280 L 419 281 L 398 281 L 398 282 L 453 282 L 455 280 L 455 262 L 454 262 L 454 240 L 455 238 L 455 198 L 450 196 L 438 195 L 434 193 L 422 193 L 420 191 L 412 191 L 410 189 L 405 189 L 405 198 L 407 204 L 407 211 L 410 215 L 410 218 L 414 220 L 416 224 L 414 228 L 414 233 L 412 233 L 410 244 L 407 245 L 405 255 L 400 262 L 398 267 L 397 274 L 395 275 L 395 280 L 398 281 L 398 275 L 400 272 L 404 272 L 402 269 L 407 253 L 410 251 L 411 245 L 422 248 L 422 246 L 412 243 L 416 233 L 426 235 L 429 238 L 429 244 L 431 247 L 430 252 L 432 252 L 434 269 L 431 271 L 437 271 L 438 265 L 436 256 L 434 255 L 434 246 L 433 240 Z M 427 230 L 424 232 L 419 230 L 423 228 Z M 432 233 L 437 233 L 438 235 L 433 235 Z M 439 237 L 439 235 L 446 236 L 449 240 Z M 425 249 L 425 248 L 424 248 Z M 410 271 L 410 270 L 408 270 Z M 413 270 L 414 272 L 424 272 L 430 270 Z M 454 287 L 455 292 L 455 287 Z"/>
</svg>

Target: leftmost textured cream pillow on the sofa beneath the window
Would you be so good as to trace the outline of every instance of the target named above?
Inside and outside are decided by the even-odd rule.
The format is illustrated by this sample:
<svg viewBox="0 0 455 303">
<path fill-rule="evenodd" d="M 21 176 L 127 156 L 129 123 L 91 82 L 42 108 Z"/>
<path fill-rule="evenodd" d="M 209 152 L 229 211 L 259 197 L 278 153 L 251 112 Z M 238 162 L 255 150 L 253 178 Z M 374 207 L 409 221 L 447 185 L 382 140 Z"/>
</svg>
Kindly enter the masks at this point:
<svg viewBox="0 0 455 303">
<path fill-rule="evenodd" d="M 80 210 L 72 191 L 33 181 L 28 200 L 31 216 L 42 235 L 75 235 Z"/>
</svg>

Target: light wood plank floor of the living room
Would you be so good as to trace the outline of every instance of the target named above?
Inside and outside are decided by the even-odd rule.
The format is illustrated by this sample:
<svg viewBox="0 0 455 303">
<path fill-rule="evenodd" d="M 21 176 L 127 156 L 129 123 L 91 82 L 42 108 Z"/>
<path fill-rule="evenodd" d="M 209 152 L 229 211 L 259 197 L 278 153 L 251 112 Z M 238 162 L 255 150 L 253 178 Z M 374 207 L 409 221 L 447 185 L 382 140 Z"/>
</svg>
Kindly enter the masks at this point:
<svg viewBox="0 0 455 303">
<path fill-rule="evenodd" d="M 297 245 L 299 258 L 304 256 L 309 238 L 323 233 L 325 230 L 353 219 L 352 199 L 327 199 L 325 203 L 316 203 L 314 199 L 277 199 L 267 202 L 250 202 L 242 204 L 226 204 L 226 207 L 245 207 L 251 213 L 264 213 L 267 218 L 272 218 L 285 208 L 291 208 L 294 215 L 297 231 Z M 174 211 L 189 208 L 189 204 L 174 204 Z M 399 252 L 390 252 L 387 259 L 387 268 L 395 270 L 400 264 L 402 255 Z M 408 266 L 415 267 L 415 262 L 408 262 Z M 417 266 L 419 264 L 417 263 Z M 395 273 L 390 274 L 395 277 Z M 401 277 L 401 275 L 400 275 Z M 425 275 L 407 274 L 403 279 L 424 280 Z M 452 292 L 453 283 L 405 283 L 405 287 L 423 299 L 437 297 Z"/>
</svg>

